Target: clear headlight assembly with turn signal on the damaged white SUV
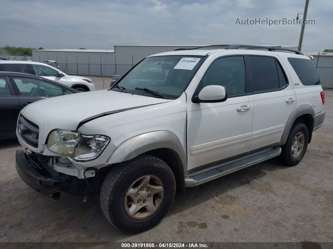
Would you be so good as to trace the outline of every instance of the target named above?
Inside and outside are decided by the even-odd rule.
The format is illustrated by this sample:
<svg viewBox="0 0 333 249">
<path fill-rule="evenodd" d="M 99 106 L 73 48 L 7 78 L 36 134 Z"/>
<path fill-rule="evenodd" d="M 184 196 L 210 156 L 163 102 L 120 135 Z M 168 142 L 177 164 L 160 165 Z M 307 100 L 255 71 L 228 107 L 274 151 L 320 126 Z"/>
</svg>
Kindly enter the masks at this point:
<svg viewBox="0 0 333 249">
<path fill-rule="evenodd" d="M 86 136 L 77 131 L 54 130 L 50 133 L 47 148 L 75 161 L 88 161 L 97 158 L 109 141 L 107 136 Z"/>
</svg>

